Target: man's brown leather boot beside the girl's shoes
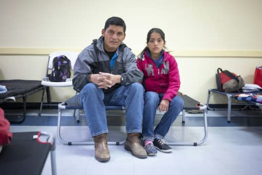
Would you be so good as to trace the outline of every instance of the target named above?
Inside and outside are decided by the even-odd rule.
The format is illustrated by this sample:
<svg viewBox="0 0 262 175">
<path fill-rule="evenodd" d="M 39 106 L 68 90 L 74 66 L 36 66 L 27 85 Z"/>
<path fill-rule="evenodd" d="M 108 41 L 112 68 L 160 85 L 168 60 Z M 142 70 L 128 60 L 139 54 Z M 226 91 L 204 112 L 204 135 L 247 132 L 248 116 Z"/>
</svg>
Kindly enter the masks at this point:
<svg viewBox="0 0 262 175">
<path fill-rule="evenodd" d="M 137 158 L 140 159 L 147 158 L 147 153 L 139 142 L 139 133 L 127 134 L 125 149 L 131 151 L 132 155 L 134 155 Z"/>
</svg>

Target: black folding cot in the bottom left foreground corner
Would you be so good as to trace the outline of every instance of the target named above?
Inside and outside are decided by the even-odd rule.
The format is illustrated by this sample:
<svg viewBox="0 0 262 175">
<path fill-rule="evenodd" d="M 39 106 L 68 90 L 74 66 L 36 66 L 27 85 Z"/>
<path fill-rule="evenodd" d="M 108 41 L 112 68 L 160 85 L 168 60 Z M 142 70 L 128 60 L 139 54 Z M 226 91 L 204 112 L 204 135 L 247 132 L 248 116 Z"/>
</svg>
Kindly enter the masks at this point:
<svg viewBox="0 0 262 175">
<path fill-rule="evenodd" d="M 1 174 L 41 174 L 50 152 L 52 174 L 56 174 L 55 137 L 47 132 L 13 132 L 10 144 L 0 152 Z"/>
</svg>

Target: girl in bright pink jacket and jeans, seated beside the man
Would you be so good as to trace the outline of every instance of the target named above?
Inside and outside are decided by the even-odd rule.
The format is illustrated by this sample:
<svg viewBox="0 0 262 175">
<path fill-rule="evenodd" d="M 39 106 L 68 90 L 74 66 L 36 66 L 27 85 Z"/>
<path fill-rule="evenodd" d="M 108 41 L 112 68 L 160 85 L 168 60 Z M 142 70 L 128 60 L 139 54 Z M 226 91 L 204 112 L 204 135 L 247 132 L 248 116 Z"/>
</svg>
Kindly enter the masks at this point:
<svg viewBox="0 0 262 175">
<path fill-rule="evenodd" d="M 147 154 L 155 155 L 157 149 L 162 152 L 172 151 L 164 137 L 182 111 L 184 102 L 178 96 L 178 64 L 164 50 L 164 32 L 159 28 L 152 28 L 147 33 L 146 43 L 147 46 L 137 59 L 137 66 L 144 73 L 142 84 L 145 88 L 142 138 Z M 157 109 L 165 111 L 165 114 L 154 130 Z"/>
</svg>

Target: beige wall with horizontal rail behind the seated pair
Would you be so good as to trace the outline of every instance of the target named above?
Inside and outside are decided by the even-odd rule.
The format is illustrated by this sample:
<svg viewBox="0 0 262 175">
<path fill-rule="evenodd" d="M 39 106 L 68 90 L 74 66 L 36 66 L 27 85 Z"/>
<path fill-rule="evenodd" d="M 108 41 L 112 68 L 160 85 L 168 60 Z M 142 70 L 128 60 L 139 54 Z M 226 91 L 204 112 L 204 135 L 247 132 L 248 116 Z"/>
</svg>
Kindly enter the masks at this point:
<svg viewBox="0 0 262 175">
<path fill-rule="evenodd" d="M 161 3 L 157 4 L 156 3 Z M 152 27 L 166 34 L 166 46 L 179 64 L 180 91 L 206 103 L 215 88 L 217 67 L 253 83 L 262 57 L 262 1 L 33 1 L 0 2 L 0 79 L 41 80 L 48 53 L 81 51 L 101 35 L 108 17 L 127 25 L 125 44 L 138 54 Z M 23 66 L 21 66 L 23 65 Z M 74 94 L 52 88 L 54 101 Z M 40 93 L 29 101 L 39 102 Z M 225 103 L 217 96 L 212 103 Z"/>
</svg>

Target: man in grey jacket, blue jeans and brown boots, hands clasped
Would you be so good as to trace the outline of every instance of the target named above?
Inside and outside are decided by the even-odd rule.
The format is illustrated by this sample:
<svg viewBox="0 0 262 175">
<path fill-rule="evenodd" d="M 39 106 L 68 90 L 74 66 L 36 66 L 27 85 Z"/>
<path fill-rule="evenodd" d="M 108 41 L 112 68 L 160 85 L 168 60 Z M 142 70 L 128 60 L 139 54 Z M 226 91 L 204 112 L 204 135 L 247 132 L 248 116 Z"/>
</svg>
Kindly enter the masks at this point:
<svg viewBox="0 0 262 175">
<path fill-rule="evenodd" d="M 123 42 L 126 26 L 120 17 L 105 22 L 102 36 L 86 47 L 74 65 L 73 86 L 85 111 L 95 143 L 95 158 L 110 160 L 107 147 L 105 105 L 126 107 L 125 149 L 135 157 L 147 158 L 139 143 L 143 116 L 143 73 L 134 53 Z"/>
</svg>

